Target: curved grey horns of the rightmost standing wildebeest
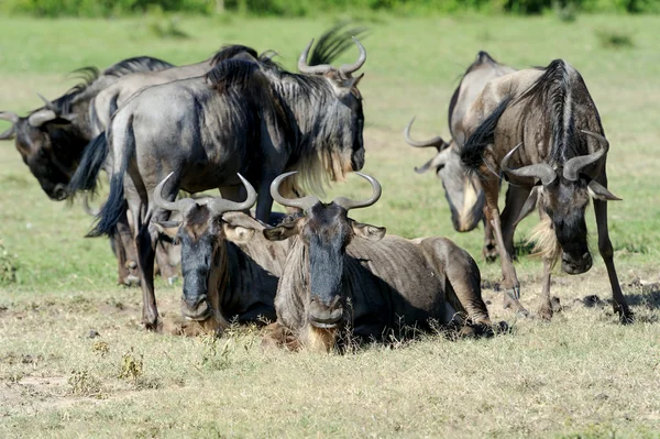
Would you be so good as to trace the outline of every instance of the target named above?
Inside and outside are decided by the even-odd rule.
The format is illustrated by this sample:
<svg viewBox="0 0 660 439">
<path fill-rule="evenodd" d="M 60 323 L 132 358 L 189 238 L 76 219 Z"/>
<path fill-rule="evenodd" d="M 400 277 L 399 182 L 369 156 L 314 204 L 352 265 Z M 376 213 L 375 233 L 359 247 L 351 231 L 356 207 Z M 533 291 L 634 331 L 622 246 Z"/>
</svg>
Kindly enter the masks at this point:
<svg viewBox="0 0 660 439">
<path fill-rule="evenodd" d="M 609 142 L 605 136 L 594 133 L 586 130 L 581 130 L 583 133 L 591 135 L 601 143 L 601 149 L 592 154 L 580 155 L 578 157 L 573 157 L 569 160 L 563 166 L 563 176 L 565 179 L 571 182 L 576 182 L 580 178 L 580 171 L 582 171 L 585 166 L 588 166 L 593 163 L 596 163 L 601 157 L 607 154 L 609 150 Z M 535 165 L 524 166 L 518 169 L 513 169 L 508 166 L 509 160 L 512 156 L 518 151 L 518 149 L 522 145 L 519 143 L 512 151 L 508 152 L 502 160 L 502 171 L 505 173 L 516 176 L 516 177 L 535 177 L 541 180 L 543 186 L 550 185 L 552 182 L 557 179 L 557 173 L 547 163 L 537 163 Z"/>
</svg>

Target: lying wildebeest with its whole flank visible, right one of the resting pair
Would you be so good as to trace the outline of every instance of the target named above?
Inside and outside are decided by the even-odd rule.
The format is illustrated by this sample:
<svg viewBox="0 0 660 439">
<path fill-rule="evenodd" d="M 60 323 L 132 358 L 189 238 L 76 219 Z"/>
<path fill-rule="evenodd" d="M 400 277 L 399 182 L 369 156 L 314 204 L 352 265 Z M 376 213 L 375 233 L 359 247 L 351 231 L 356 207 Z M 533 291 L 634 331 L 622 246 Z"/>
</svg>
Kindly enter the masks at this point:
<svg viewBox="0 0 660 439">
<path fill-rule="evenodd" d="M 298 207 L 302 217 L 265 229 L 268 240 L 293 238 L 275 297 L 277 325 L 311 349 L 330 350 L 343 327 L 360 339 L 381 339 L 400 326 L 428 329 L 431 321 L 491 326 L 481 297 L 481 275 L 468 252 L 444 238 L 407 240 L 385 228 L 348 217 L 372 206 L 381 185 L 367 175 L 370 199 L 338 197 L 324 205 L 315 196 L 273 198 Z M 274 333 L 278 331 L 275 330 Z"/>
</svg>

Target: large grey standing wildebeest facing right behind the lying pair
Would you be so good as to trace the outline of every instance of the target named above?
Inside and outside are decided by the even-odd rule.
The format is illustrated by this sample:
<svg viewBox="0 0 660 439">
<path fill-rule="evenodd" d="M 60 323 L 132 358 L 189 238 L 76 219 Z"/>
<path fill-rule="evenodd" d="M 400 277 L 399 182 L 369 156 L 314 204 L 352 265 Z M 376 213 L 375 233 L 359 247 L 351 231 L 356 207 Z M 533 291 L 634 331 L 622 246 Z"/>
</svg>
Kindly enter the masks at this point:
<svg viewBox="0 0 660 439">
<path fill-rule="evenodd" d="M 314 183 L 341 179 L 364 165 L 362 98 L 353 78 L 366 61 L 308 66 L 311 43 L 300 55 L 299 69 L 284 72 L 273 63 L 230 59 L 205 77 L 143 89 L 114 114 L 101 142 L 105 161 L 112 152 L 110 195 L 91 235 L 110 233 L 124 196 L 133 216 L 143 288 L 143 321 L 157 327 L 153 286 L 153 221 L 168 212 L 153 204 L 153 188 L 169 172 L 164 197 L 221 188 L 226 198 L 240 198 L 237 173 L 258 187 L 256 218 L 267 221 L 273 200 L 268 187 L 277 175 L 302 168 Z M 128 178 L 127 178 L 128 177 Z M 318 186 L 318 185 L 317 185 Z"/>
</svg>

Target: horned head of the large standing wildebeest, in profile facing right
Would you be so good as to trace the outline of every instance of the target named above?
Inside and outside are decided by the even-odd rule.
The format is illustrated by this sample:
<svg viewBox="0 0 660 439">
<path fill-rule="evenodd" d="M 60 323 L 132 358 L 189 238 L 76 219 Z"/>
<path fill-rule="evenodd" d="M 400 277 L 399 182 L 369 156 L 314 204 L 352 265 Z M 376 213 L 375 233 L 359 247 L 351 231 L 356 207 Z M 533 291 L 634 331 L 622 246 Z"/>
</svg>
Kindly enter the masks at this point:
<svg viewBox="0 0 660 439">
<path fill-rule="evenodd" d="M 298 59 L 298 69 L 302 74 L 324 78 L 334 95 L 333 101 L 323 105 L 322 132 L 319 133 L 323 142 L 334 143 L 333 154 L 337 154 L 339 160 L 330 161 L 332 166 L 342 167 L 329 169 L 332 173 L 332 179 L 342 179 L 346 172 L 360 171 L 364 166 L 364 141 L 362 138 L 364 112 L 362 95 L 358 89 L 358 84 L 364 74 L 353 77 L 353 73 L 358 72 L 366 62 L 366 50 L 355 37 L 353 41 L 360 50 L 360 55 L 354 64 L 344 64 L 339 68 L 330 64 L 307 65 L 307 57 L 314 40 Z"/>
</svg>

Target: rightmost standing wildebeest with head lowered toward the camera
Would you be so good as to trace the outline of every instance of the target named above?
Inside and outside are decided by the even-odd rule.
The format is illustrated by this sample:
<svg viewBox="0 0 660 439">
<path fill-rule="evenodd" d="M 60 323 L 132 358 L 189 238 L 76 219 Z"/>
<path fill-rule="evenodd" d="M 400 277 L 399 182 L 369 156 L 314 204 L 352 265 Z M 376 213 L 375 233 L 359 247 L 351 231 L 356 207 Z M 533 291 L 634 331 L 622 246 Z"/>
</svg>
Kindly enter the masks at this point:
<svg viewBox="0 0 660 439">
<path fill-rule="evenodd" d="M 470 138 L 461 160 L 477 172 L 486 196 L 486 219 L 492 222 L 499 257 L 505 306 L 518 303 L 519 282 L 503 242 L 497 209 L 499 172 L 529 195 L 515 217 L 540 201 L 540 254 L 543 257 L 543 304 L 540 315 L 551 318 L 550 273 L 561 254 L 562 268 L 580 274 L 592 266 L 584 212 L 590 198 L 598 228 L 598 250 L 612 285 L 614 309 L 622 321 L 631 312 L 622 293 L 607 231 L 607 202 L 617 200 L 606 189 L 608 142 L 601 117 L 582 76 L 556 59 L 546 68 L 527 69 L 490 81 L 464 118 Z M 518 145 L 520 144 L 520 145 Z M 512 146 L 518 145 L 512 150 Z M 521 205 L 521 204 L 520 204 Z"/>
</svg>

